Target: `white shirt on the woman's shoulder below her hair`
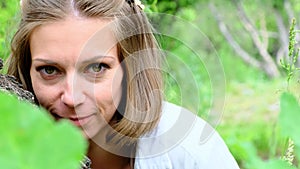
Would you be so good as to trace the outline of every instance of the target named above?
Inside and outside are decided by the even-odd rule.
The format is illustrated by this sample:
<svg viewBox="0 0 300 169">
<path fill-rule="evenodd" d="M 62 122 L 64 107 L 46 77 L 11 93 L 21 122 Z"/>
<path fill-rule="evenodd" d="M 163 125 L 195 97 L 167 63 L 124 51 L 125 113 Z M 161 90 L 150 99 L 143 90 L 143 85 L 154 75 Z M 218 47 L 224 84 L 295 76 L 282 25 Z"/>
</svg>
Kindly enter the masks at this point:
<svg viewBox="0 0 300 169">
<path fill-rule="evenodd" d="M 219 134 L 190 111 L 164 102 L 158 126 L 138 141 L 135 169 L 238 169 Z"/>
</svg>

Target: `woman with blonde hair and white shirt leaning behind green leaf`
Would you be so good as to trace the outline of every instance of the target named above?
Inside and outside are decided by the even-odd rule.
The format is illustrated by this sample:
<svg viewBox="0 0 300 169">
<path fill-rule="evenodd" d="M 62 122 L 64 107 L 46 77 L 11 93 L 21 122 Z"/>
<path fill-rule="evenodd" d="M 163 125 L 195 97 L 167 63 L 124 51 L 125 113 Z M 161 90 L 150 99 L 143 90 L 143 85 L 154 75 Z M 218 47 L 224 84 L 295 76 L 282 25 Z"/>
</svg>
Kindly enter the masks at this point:
<svg viewBox="0 0 300 169">
<path fill-rule="evenodd" d="M 8 73 L 82 129 L 92 168 L 238 168 L 213 129 L 201 141 L 202 119 L 163 102 L 161 53 L 141 4 L 24 0 L 21 17 Z"/>
</svg>

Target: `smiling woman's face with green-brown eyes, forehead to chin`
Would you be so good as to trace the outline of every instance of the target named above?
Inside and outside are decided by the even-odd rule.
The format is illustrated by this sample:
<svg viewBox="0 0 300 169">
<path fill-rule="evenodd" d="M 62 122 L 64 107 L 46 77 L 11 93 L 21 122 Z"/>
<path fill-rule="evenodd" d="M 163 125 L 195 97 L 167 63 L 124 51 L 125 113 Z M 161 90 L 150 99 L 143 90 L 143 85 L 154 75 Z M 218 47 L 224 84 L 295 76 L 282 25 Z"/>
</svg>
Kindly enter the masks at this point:
<svg viewBox="0 0 300 169">
<path fill-rule="evenodd" d="M 110 122 L 122 94 L 123 71 L 108 23 L 73 17 L 39 26 L 30 37 L 39 103 L 90 138 Z"/>
</svg>

